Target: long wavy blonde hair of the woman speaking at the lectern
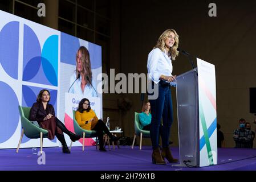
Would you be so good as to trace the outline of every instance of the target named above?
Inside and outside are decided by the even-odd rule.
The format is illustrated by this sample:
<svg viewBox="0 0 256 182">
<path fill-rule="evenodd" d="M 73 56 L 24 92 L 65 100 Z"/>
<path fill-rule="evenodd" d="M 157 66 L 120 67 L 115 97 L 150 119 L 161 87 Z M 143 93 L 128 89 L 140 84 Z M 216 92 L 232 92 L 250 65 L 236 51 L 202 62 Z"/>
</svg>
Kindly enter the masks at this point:
<svg viewBox="0 0 256 182">
<path fill-rule="evenodd" d="M 160 35 L 159 39 L 157 40 L 157 43 L 156 43 L 156 46 L 154 47 L 155 48 L 159 48 L 161 49 L 162 52 L 164 52 L 164 48 L 165 48 L 165 40 L 166 38 L 168 38 L 170 32 L 173 32 L 174 35 L 175 35 L 175 43 L 173 44 L 173 47 L 170 48 L 169 50 L 169 53 L 170 53 L 170 56 L 172 57 L 172 60 L 175 60 L 175 58 L 178 56 L 178 51 L 177 51 L 177 48 L 178 48 L 178 34 L 175 30 L 173 29 L 167 29 L 165 30 L 162 35 Z"/>
</svg>

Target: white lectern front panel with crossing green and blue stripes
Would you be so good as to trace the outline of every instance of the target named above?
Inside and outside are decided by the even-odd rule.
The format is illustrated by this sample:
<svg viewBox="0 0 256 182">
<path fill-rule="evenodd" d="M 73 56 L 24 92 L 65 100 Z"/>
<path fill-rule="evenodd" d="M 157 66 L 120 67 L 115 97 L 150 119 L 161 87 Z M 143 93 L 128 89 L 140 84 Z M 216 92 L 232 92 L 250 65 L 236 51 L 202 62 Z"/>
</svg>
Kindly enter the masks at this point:
<svg viewBox="0 0 256 182">
<path fill-rule="evenodd" d="M 217 164 L 215 67 L 197 58 L 200 167 Z"/>
</svg>

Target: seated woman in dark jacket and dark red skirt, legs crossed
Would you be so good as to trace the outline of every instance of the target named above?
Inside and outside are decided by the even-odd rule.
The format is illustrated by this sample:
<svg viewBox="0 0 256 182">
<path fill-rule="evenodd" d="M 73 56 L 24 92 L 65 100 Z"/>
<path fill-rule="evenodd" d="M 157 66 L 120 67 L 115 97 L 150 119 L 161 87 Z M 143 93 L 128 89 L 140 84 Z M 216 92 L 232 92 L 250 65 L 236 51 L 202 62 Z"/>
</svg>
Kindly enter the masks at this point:
<svg viewBox="0 0 256 182">
<path fill-rule="evenodd" d="M 54 139 L 54 136 L 62 143 L 62 152 L 70 154 L 63 132 L 66 133 L 70 139 L 75 142 L 80 137 L 71 131 L 68 131 L 66 126 L 55 117 L 54 106 L 48 104 L 50 101 L 50 92 L 43 89 L 39 92 L 36 102 L 32 105 L 30 110 L 30 121 L 37 121 L 40 127 L 48 131 L 48 139 Z"/>
</svg>

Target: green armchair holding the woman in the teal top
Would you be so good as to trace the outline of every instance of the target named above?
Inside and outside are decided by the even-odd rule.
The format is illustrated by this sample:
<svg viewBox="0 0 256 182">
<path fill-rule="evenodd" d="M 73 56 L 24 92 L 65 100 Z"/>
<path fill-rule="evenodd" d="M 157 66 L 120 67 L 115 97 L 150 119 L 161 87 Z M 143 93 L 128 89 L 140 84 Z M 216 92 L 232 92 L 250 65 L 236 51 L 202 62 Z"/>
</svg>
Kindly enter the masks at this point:
<svg viewBox="0 0 256 182">
<path fill-rule="evenodd" d="M 140 150 L 141 150 L 141 143 L 142 143 L 142 138 L 150 138 L 150 131 L 147 130 L 142 130 L 140 121 L 139 121 L 139 113 L 135 112 L 135 119 L 134 119 L 134 127 L 135 127 L 135 134 L 133 137 L 133 142 L 132 142 L 132 148 L 135 143 L 136 135 L 140 136 Z"/>
</svg>

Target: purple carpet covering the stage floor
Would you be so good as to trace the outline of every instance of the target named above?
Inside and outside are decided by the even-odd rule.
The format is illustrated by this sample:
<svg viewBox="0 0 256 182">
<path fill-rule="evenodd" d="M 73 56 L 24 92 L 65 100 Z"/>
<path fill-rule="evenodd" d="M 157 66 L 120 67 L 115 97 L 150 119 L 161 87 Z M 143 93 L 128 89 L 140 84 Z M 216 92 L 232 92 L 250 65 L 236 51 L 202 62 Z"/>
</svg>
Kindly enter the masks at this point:
<svg viewBox="0 0 256 182">
<path fill-rule="evenodd" d="M 36 154 L 31 148 L 0 150 L 1 171 L 252 171 L 256 170 L 256 149 L 219 148 L 218 165 L 209 167 L 172 167 L 172 164 L 155 165 L 151 162 L 151 146 L 142 150 L 131 146 L 101 152 L 95 146 L 72 147 L 71 154 L 63 154 L 59 147 L 43 148 L 46 164 L 39 165 Z M 39 148 L 37 149 L 39 150 Z M 172 147 L 174 158 L 178 158 L 178 147 Z"/>
</svg>

